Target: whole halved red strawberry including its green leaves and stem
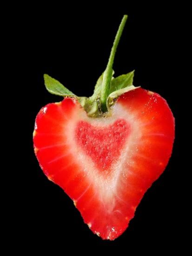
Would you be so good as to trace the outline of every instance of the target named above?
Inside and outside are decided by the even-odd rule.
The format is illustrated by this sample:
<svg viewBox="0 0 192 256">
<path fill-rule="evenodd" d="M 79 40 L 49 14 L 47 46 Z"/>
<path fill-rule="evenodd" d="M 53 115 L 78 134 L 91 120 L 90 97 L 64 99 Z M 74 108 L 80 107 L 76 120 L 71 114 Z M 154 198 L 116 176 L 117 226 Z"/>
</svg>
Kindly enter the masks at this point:
<svg viewBox="0 0 192 256">
<path fill-rule="evenodd" d="M 70 196 L 93 233 L 109 240 L 127 228 L 146 190 L 166 168 L 174 140 L 166 101 L 134 87 L 134 72 L 113 78 L 126 19 L 91 97 L 78 97 L 44 75 L 47 90 L 64 100 L 40 110 L 33 133 L 45 175 Z"/>
</svg>

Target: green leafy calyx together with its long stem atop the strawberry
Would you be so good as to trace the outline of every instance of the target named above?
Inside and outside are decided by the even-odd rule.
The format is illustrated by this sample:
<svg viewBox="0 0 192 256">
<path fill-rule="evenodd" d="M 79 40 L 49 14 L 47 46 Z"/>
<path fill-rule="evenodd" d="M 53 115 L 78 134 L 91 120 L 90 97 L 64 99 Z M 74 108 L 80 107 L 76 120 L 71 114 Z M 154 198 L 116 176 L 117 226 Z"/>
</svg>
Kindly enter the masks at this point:
<svg viewBox="0 0 192 256">
<path fill-rule="evenodd" d="M 127 15 L 123 16 L 113 42 L 106 69 L 99 77 L 91 97 L 79 97 L 73 94 L 73 92 L 68 90 L 56 79 L 48 74 L 44 74 L 45 86 L 48 92 L 62 97 L 76 98 L 80 105 L 85 109 L 88 116 L 101 117 L 110 115 L 111 107 L 121 94 L 139 88 L 133 86 L 134 70 L 128 74 L 122 74 L 116 78 L 113 77 L 113 61 L 127 17 Z"/>
</svg>

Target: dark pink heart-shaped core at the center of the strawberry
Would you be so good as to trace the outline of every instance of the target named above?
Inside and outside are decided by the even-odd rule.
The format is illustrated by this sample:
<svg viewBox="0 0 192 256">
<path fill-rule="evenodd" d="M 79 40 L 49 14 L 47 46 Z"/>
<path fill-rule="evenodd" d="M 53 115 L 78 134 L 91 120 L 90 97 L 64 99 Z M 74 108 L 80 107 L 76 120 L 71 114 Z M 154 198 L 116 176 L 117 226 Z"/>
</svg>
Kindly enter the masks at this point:
<svg viewBox="0 0 192 256">
<path fill-rule="evenodd" d="M 100 170 L 109 169 L 118 160 L 129 134 L 130 127 L 124 119 L 107 127 L 93 127 L 86 121 L 79 121 L 76 127 L 78 144 Z"/>
</svg>

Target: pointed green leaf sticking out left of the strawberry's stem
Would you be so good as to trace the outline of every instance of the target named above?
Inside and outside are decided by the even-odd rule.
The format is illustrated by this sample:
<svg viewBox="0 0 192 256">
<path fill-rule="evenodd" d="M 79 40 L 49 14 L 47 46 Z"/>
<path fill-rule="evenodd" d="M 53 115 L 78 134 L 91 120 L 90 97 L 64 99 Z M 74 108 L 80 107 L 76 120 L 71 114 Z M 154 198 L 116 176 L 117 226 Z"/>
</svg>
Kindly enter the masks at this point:
<svg viewBox="0 0 192 256">
<path fill-rule="evenodd" d="M 44 81 L 46 89 L 49 93 L 59 95 L 59 96 L 75 96 L 71 91 L 69 91 L 65 86 L 63 86 L 59 81 L 52 78 L 48 74 L 44 74 Z"/>
</svg>

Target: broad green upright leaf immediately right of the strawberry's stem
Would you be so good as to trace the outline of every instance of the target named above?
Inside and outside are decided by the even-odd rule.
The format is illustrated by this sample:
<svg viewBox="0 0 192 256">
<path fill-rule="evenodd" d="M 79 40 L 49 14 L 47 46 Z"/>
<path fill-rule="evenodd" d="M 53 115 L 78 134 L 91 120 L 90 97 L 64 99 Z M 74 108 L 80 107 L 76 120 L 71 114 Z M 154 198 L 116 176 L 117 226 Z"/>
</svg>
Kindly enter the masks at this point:
<svg viewBox="0 0 192 256">
<path fill-rule="evenodd" d="M 132 72 L 129 72 L 128 74 L 122 74 L 112 79 L 109 94 L 119 89 L 126 88 L 127 86 L 131 86 L 133 84 L 133 77 L 134 77 L 134 70 Z"/>
</svg>

